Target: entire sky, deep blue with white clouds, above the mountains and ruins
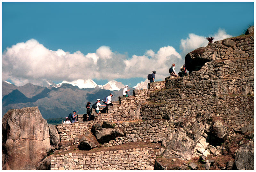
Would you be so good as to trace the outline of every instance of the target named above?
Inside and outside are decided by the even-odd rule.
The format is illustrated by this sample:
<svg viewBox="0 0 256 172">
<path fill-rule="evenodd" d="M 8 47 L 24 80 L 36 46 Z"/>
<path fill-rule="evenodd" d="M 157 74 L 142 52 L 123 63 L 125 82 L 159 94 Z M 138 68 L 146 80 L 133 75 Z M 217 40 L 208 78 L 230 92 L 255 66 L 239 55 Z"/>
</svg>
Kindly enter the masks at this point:
<svg viewBox="0 0 256 172">
<path fill-rule="evenodd" d="M 2 79 L 135 86 L 156 70 L 160 81 L 205 37 L 238 36 L 249 25 L 254 2 L 2 2 Z"/>
</svg>

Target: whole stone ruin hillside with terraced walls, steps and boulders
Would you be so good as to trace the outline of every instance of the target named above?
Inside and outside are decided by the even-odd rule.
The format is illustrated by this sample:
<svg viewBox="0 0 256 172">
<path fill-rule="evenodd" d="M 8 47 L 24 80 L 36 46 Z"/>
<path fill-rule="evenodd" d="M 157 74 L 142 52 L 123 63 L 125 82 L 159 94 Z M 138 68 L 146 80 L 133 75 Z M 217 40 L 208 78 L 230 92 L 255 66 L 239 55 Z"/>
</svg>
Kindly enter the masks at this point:
<svg viewBox="0 0 256 172">
<path fill-rule="evenodd" d="M 253 169 L 254 34 L 198 48 L 186 55 L 185 66 L 188 76 L 168 77 L 149 83 L 148 89 L 134 90 L 94 121 L 84 121 L 79 114 L 78 123 L 55 127 L 45 123 L 37 107 L 9 110 L 2 119 L 3 169 L 171 169 L 161 160 L 188 162 L 196 157 L 210 169 L 215 161 L 208 156 L 221 155 L 225 144 L 245 135 L 250 141 L 242 140 L 235 158 L 221 169 Z M 37 129 L 35 122 L 42 125 Z M 64 142 L 82 152 L 46 155 L 54 149 L 68 151 Z M 143 142 L 148 146 L 86 152 L 99 145 Z M 22 160 L 12 152 L 17 149 Z M 184 163 L 178 169 L 188 168 L 198 166 Z"/>
</svg>

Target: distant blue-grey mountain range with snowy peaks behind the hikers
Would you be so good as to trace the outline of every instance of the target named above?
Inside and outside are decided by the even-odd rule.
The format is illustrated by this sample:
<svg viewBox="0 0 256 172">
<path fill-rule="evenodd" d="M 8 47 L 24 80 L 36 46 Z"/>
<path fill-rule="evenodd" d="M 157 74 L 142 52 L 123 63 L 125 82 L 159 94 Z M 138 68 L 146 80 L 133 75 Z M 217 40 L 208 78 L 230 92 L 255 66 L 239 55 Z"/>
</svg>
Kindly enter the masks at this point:
<svg viewBox="0 0 256 172">
<path fill-rule="evenodd" d="M 145 88 L 145 85 L 147 84 L 141 82 L 135 87 L 141 89 Z M 3 81 L 2 116 L 10 109 L 31 106 L 38 106 L 44 119 L 66 117 L 73 110 L 84 114 L 85 104 L 88 101 L 93 104 L 97 98 L 102 99 L 110 93 L 113 94 L 112 100 L 118 101 L 118 97 L 123 95 L 123 88 L 124 85 L 117 81 L 110 81 L 105 85 L 97 85 L 92 80 L 77 80 L 69 83 L 63 81 L 59 84 L 50 81 L 47 87 L 31 83 L 19 87 Z M 129 89 L 132 95 L 135 88 Z"/>
</svg>

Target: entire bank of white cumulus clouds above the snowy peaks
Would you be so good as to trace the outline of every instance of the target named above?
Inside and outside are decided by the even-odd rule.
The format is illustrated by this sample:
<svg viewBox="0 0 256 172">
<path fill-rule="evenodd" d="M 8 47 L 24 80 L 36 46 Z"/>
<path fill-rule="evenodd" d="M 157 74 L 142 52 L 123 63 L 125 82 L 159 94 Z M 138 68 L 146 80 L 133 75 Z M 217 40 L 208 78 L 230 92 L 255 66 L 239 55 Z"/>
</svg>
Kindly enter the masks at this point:
<svg viewBox="0 0 256 172">
<path fill-rule="evenodd" d="M 169 75 L 168 70 L 172 63 L 176 64 L 176 72 L 179 72 L 188 52 L 207 45 L 205 37 L 189 34 L 187 39 L 182 39 L 181 55 L 172 46 L 165 46 L 157 52 L 147 50 L 142 56 L 132 57 L 113 52 L 108 46 L 101 46 L 96 52 L 86 55 L 80 51 L 52 51 L 35 39 L 30 39 L 25 43 L 12 45 L 3 52 L 2 79 L 9 79 L 17 86 L 26 83 L 43 85 L 47 80 L 72 82 L 94 78 L 147 78 L 147 74 L 156 70 L 156 78 L 164 80 Z M 232 36 L 219 29 L 212 37 L 217 41 Z"/>
</svg>

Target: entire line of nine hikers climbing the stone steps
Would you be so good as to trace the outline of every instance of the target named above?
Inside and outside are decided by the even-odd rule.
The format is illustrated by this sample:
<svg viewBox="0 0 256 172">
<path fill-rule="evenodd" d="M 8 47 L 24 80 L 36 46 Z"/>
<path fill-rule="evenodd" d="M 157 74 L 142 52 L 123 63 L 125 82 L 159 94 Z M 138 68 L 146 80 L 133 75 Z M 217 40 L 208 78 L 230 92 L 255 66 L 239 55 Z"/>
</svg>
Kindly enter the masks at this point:
<svg viewBox="0 0 256 172">
<path fill-rule="evenodd" d="M 170 75 L 174 76 L 174 77 L 178 77 L 178 76 L 182 77 L 182 76 L 187 76 L 188 75 L 185 65 L 180 67 L 180 71 L 181 72 L 179 72 L 178 74 L 176 73 L 174 63 L 172 64 L 172 67 L 170 67 L 170 69 L 169 69 Z M 148 74 L 148 80 L 150 82 L 155 82 L 155 74 L 156 74 L 155 70 L 153 71 L 152 74 Z M 128 85 L 125 85 L 125 88 L 123 90 L 123 97 L 128 97 L 129 96 L 128 91 L 130 91 L 130 90 L 128 90 Z M 105 97 L 105 98 L 102 99 L 102 102 L 105 105 L 100 104 L 100 98 L 98 98 L 97 102 L 92 105 L 92 108 L 90 107 L 91 102 L 87 102 L 87 104 L 86 104 L 86 113 L 88 115 L 88 120 L 86 119 L 86 121 L 94 120 L 94 116 L 92 115 L 92 109 L 94 109 L 96 114 L 98 115 L 98 114 L 101 113 L 100 112 L 100 106 L 113 106 L 112 96 L 113 96 L 113 94 L 110 93 L 108 97 Z M 77 122 L 77 113 L 76 113 L 75 110 L 73 111 L 73 113 L 69 113 L 68 117 L 66 117 L 66 121 L 64 121 L 62 123 L 63 124 L 70 124 L 70 123 L 74 123 L 74 122 Z"/>
</svg>

